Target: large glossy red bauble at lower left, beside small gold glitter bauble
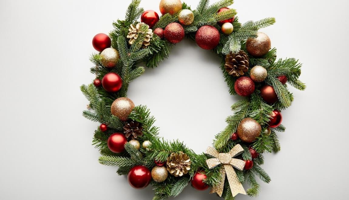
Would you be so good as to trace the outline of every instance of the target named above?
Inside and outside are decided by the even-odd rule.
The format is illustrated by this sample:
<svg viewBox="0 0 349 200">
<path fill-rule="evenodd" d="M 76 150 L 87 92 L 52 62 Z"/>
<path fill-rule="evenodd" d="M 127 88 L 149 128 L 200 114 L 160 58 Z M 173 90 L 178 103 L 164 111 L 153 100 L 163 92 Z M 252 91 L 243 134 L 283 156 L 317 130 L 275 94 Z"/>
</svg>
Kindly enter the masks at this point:
<svg viewBox="0 0 349 200">
<path fill-rule="evenodd" d="M 133 188 L 143 189 L 150 183 L 151 172 L 147 167 L 136 165 L 129 170 L 127 180 Z"/>
</svg>

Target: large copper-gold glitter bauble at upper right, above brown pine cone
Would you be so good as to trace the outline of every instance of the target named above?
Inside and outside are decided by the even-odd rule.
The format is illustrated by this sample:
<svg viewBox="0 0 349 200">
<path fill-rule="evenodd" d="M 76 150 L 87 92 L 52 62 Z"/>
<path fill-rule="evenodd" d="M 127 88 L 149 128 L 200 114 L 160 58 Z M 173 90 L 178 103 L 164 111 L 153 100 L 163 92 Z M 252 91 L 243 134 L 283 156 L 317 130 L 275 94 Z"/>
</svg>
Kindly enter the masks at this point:
<svg viewBox="0 0 349 200">
<path fill-rule="evenodd" d="M 246 48 L 248 53 L 253 56 L 262 56 L 268 53 L 272 47 L 270 38 L 265 33 L 258 32 L 257 38 L 248 38 L 246 41 Z"/>
</svg>

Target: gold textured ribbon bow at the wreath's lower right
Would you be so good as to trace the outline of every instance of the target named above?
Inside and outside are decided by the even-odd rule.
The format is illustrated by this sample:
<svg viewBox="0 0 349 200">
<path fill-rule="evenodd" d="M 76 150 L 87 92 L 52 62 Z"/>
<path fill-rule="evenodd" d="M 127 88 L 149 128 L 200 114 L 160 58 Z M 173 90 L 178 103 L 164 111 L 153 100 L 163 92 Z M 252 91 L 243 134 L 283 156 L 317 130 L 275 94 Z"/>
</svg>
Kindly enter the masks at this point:
<svg viewBox="0 0 349 200">
<path fill-rule="evenodd" d="M 217 150 L 213 147 L 208 147 L 206 150 L 206 155 L 214 157 L 211 159 L 207 159 L 206 163 L 209 169 L 213 169 L 220 164 L 223 164 L 223 167 L 221 168 L 221 176 L 222 180 L 221 183 L 219 183 L 216 186 L 213 186 L 211 193 L 217 193 L 220 197 L 222 197 L 223 188 L 224 188 L 224 181 L 225 181 L 225 174 L 227 174 L 228 182 L 230 185 L 231 194 L 233 197 L 235 197 L 238 193 L 240 194 L 246 194 L 246 191 L 242 184 L 240 183 L 235 170 L 236 169 L 242 171 L 245 167 L 245 161 L 240 159 L 235 159 L 233 157 L 242 154 L 244 149 L 241 147 L 241 145 L 235 145 L 229 153 L 219 153 Z"/>
</svg>

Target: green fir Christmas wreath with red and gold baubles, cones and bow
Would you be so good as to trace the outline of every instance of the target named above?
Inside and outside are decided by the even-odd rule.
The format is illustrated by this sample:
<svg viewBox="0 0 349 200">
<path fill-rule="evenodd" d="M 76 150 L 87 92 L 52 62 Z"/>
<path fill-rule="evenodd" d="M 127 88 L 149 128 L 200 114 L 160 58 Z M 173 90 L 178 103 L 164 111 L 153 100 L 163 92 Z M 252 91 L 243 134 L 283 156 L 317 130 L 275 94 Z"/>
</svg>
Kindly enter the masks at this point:
<svg viewBox="0 0 349 200">
<path fill-rule="evenodd" d="M 241 24 L 236 10 L 228 8 L 232 3 L 201 0 L 192 10 L 180 0 L 161 0 L 159 17 L 132 0 L 125 20 L 114 22 L 109 36 L 99 33 L 92 40 L 100 52 L 91 55 L 96 79 L 81 91 L 90 102 L 83 116 L 101 123 L 93 139 L 102 154 L 99 162 L 118 166 L 117 173 L 128 175 L 134 188 L 153 185 L 154 200 L 176 197 L 190 182 L 197 190 L 211 187 L 210 193 L 225 199 L 238 193 L 257 196 L 256 177 L 270 182 L 261 168 L 263 153 L 280 151 L 276 132 L 285 131 L 280 111 L 294 99 L 286 83 L 305 89 L 298 80 L 301 64 L 293 58 L 276 60 L 269 37 L 258 32 L 274 18 Z M 230 94 L 245 97 L 231 106 L 235 114 L 227 117 L 227 127 L 201 154 L 159 137 L 149 109 L 127 98 L 129 83 L 145 70 L 139 63 L 157 67 L 185 36 L 222 57 Z M 245 182 L 250 189 L 244 189 Z"/>
</svg>

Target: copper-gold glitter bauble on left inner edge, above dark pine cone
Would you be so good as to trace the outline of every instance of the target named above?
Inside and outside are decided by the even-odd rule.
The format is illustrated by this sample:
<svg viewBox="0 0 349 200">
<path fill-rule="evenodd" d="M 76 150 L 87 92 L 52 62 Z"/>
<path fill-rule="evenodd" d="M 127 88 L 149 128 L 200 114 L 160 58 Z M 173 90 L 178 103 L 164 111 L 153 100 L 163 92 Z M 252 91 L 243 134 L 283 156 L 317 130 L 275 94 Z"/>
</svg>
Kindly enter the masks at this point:
<svg viewBox="0 0 349 200">
<path fill-rule="evenodd" d="M 112 103 L 110 110 L 112 115 L 119 117 L 121 121 L 126 121 L 133 108 L 134 103 L 131 99 L 120 97 Z"/>
</svg>

